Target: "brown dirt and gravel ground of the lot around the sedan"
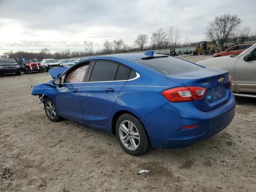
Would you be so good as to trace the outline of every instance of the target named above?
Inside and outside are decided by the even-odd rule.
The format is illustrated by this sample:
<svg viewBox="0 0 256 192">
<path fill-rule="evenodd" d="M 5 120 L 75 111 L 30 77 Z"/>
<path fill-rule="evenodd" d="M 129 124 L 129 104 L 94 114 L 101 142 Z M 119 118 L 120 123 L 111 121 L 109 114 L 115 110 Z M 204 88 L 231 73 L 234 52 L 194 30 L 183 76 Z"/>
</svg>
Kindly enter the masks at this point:
<svg viewBox="0 0 256 192">
<path fill-rule="evenodd" d="M 0 192 L 256 191 L 255 99 L 236 98 L 234 120 L 208 140 L 134 157 L 114 136 L 50 122 L 30 88 L 50 79 L 47 72 L 0 78 Z"/>
</svg>

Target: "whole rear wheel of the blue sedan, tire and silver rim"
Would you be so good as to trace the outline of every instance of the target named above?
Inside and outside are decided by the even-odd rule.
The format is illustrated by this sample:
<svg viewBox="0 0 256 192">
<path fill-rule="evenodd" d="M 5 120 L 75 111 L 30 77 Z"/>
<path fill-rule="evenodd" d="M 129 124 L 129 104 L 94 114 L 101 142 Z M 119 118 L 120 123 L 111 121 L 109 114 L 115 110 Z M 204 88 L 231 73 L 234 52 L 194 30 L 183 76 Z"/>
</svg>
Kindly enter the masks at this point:
<svg viewBox="0 0 256 192">
<path fill-rule="evenodd" d="M 116 136 L 120 146 L 128 154 L 138 156 L 150 148 L 150 140 L 144 126 L 131 114 L 123 114 L 118 118 Z"/>
</svg>

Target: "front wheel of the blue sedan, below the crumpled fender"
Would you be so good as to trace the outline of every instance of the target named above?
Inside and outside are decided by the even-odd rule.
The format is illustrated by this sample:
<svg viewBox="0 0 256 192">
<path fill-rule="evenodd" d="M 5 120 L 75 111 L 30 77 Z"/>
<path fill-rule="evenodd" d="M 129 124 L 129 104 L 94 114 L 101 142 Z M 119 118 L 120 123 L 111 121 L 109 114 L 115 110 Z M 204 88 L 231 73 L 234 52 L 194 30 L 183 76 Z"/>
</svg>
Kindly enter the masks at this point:
<svg viewBox="0 0 256 192">
<path fill-rule="evenodd" d="M 56 105 L 50 98 L 46 98 L 46 100 L 44 100 L 44 111 L 51 121 L 57 122 L 60 120 L 59 112 L 56 108 Z"/>
</svg>

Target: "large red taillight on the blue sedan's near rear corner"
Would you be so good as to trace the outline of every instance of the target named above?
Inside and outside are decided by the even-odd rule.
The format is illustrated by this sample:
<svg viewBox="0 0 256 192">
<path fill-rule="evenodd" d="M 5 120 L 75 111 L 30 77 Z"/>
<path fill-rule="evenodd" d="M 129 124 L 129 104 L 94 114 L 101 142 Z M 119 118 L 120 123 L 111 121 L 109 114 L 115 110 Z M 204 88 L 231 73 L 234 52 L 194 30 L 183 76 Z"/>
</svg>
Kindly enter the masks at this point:
<svg viewBox="0 0 256 192">
<path fill-rule="evenodd" d="M 204 87 L 176 87 L 162 92 L 163 96 L 170 102 L 195 101 L 204 98 L 206 88 Z"/>
</svg>

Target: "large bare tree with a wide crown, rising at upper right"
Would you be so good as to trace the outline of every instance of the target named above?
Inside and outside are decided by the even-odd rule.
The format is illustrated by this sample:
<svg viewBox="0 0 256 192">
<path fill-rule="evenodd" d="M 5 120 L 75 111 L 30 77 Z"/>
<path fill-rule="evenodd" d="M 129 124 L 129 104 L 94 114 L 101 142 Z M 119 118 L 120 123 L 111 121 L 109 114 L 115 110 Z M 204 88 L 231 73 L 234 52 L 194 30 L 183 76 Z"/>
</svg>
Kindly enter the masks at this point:
<svg viewBox="0 0 256 192">
<path fill-rule="evenodd" d="M 206 27 L 206 36 L 212 41 L 216 39 L 224 39 L 226 41 L 241 22 L 242 20 L 237 15 L 224 14 L 216 16 Z"/>
</svg>

